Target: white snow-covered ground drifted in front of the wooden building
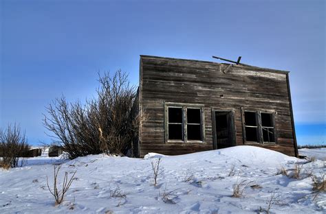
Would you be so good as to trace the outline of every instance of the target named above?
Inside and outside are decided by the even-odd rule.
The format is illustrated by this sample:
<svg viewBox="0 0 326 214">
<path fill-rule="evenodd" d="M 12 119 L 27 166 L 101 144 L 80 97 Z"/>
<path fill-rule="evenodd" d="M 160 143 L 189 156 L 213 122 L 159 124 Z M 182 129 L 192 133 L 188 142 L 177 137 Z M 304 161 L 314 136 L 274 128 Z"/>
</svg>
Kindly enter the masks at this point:
<svg viewBox="0 0 326 214">
<path fill-rule="evenodd" d="M 30 158 L 25 167 L 0 169 L 0 213 L 263 213 L 272 196 L 271 213 L 325 213 L 326 193 L 316 196 L 312 178 L 305 178 L 326 172 L 325 150 L 316 153 L 319 159 L 309 163 L 251 146 L 181 156 L 149 154 L 144 159 Z M 154 186 L 151 162 L 160 157 L 162 171 Z M 62 163 L 60 180 L 65 171 L 69 176 L 76 171 L 57 206 L 46 181 L 48 176 L 52 187 L 54 163 Z M 296 164 L 304 164 L 302 178 L 276 175 Z M 231 197 L 239 182 L 245 184 L 239 186 L 243 195 Z"/>
</svg>

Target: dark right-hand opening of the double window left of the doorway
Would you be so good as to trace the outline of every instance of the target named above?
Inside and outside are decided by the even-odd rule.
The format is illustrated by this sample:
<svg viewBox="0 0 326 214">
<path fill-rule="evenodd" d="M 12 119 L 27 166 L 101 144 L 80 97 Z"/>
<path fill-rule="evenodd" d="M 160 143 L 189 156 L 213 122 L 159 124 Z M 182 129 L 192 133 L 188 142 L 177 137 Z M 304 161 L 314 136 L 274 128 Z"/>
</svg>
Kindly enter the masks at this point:
<svg viewBox="0 0 326 214">
<path fill-rule="evenodd" d="M 202 141 L 202 119 L 199 108 L 187 109 L 187 134 L 189 141 Z"/>
</svg>

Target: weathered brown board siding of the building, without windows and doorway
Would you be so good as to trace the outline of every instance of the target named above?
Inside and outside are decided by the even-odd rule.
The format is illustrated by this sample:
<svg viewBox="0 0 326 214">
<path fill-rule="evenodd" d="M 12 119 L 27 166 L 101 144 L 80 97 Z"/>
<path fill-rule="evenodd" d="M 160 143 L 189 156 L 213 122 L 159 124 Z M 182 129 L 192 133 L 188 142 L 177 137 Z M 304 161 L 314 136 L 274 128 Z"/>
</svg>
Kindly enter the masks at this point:
<svg viewBox="0 0 326 214">
<path fill-rule="evenodd" d="M 243 145 L 241 107 L 277 112 L 277 143 L 254 145 L 296 155 L 287 72 L 232 65 L 224 73 L 226 67 L 228 64 L 141 56 L 139 101 L 146 121 L 140 128 L 140 156 L 213 150 L 213 108 L 234 110 L 236 144 Z M 204 104 L 203 143 L 166 143 L 164 102 Z"/>
</svg>

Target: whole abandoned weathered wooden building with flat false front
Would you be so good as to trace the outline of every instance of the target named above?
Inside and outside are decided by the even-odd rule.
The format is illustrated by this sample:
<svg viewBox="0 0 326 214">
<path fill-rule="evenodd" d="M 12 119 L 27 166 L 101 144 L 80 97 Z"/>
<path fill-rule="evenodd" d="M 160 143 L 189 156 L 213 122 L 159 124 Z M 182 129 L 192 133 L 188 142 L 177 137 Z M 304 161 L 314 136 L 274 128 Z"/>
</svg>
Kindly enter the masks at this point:
<svg viewBox="0 0 326 214">
<path fill-rule="evenodd" d="M 289 72 L 140 56 L 135 156 L 255 145 L 297 156 Z"/>
</svg>

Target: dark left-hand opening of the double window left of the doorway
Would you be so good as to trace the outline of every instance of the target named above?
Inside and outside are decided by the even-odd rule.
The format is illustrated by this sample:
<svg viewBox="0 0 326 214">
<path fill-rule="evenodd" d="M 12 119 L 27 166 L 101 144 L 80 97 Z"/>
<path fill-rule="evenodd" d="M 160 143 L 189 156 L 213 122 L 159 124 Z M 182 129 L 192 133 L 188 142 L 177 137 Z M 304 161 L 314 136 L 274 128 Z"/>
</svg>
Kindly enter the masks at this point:
<svg viewBox="0 0 326 214">
<path fill-rule="evenodd" d="M 170 140 L 183 140 L 182 108 L 169 108 L 168 126 Z"/>
</svg>

